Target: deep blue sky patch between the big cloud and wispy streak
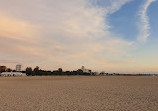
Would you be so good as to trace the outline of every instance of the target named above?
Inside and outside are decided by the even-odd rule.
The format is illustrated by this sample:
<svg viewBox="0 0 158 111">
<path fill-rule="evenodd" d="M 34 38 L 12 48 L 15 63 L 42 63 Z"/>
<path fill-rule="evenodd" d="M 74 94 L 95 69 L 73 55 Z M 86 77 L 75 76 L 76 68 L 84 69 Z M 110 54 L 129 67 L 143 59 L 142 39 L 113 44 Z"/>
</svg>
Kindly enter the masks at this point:
<svg viewBox="0 0 158 111">
<path fill-rule="evenodd" d="M 139 33 L 137 27 L 138 10 L 142 0 L 131 1 L 120 8 L 119 11 L 110 15 L 109 21 L 111 31 L 121 36 L 126 40 L 135 40 Z"/>
</svg>

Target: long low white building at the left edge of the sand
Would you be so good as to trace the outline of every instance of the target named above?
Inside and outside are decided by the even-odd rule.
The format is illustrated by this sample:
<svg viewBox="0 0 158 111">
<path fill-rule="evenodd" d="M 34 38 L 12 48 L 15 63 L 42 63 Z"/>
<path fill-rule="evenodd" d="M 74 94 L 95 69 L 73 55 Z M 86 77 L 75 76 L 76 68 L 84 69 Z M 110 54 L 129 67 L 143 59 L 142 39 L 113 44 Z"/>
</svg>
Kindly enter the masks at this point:
<svg viewBox="0 0 158 111">
<path fill-rule="evenodd" d="M 10 77 L 10 76 L 26 76 L 25 73 L 21 73 L 21 72 L 2 72 L 0 74 L 0 76 L 2 77 Z"/>
</svg>

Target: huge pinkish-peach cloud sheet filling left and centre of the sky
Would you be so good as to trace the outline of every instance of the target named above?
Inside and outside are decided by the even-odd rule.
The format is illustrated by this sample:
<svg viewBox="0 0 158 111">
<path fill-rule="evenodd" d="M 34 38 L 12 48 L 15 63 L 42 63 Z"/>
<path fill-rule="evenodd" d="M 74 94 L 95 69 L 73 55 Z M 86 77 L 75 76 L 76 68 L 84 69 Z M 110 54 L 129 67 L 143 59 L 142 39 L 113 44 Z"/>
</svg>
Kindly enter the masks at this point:
<svg viewBox="0 0 158 111">
<path fill-rule="evenodd" d="M 113 59 L 122 65 L 130 61 L 121 56 L 133 42 L 110 32 L 107 17 L 129 1 L 106 0 L 105 7 L 89 0 L 0 1 L 0 50 L 14 61 L 45 69 L 86 65 L 99 70 Z"/>
</svg>

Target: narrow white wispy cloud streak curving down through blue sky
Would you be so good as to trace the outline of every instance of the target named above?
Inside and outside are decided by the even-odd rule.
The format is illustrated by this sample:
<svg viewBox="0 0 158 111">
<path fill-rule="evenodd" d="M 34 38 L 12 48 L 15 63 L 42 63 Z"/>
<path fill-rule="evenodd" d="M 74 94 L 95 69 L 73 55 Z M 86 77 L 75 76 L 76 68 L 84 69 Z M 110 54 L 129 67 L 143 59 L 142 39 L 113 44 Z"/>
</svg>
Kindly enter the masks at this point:
<svg viewBox="0 0 158 111">
<path fill-rule="evenodd" d="M 147 0 L 144 5 L 142 6 L 141 10 L 139 11 L 140 15 L 140 24 L 139 24 L 139 30 L 140 34 L 138 36 L 138 40 L 141 42 L 145 42 L 147 38 L 150 36 L 150 23 L 149 18 L 147 15 L 147 11 L 151 3 L 155 2 L 156 0 Z"/>
</svg>

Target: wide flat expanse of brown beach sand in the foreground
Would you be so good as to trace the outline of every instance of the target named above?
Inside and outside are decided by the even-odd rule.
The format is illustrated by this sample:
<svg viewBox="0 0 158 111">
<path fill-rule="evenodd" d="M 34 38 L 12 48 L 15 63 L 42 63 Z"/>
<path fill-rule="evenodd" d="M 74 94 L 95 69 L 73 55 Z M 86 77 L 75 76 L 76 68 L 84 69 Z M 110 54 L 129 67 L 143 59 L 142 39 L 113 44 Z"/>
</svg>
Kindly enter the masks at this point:
<svg viewBox="0 0 158 111">
<path fill-rule="evenodd" d="M 156 111 L 158 77 L 0 77 L 0 111 Z"/>
</svg>

